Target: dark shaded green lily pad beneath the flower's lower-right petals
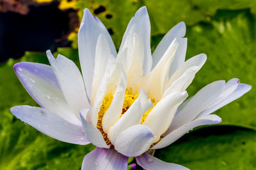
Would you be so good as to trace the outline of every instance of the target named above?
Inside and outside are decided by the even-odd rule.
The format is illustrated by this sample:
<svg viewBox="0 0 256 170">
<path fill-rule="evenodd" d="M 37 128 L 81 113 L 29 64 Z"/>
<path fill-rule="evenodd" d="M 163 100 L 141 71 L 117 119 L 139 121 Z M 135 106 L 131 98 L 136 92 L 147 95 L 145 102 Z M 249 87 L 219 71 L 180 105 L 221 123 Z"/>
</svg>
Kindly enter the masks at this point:
<svg viewBox="0 0 256 170">
<path fill-rule="evenodd" d="M 189 169 L 256 169 L 256 132 L 234 126 L 206 127 L 185 135 L 155 156 Z"/>
</svg>

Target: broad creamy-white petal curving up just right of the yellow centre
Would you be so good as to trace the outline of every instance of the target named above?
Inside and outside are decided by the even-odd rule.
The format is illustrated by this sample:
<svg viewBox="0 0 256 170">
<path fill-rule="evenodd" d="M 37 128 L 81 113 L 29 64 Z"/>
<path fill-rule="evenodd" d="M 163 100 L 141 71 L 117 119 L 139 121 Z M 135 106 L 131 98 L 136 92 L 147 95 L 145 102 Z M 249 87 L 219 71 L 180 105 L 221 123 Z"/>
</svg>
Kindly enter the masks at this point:
<svg viewBox="0 0 256 170">
<path fill-rule="evenodd" d="M 159 101 L 150 111 L 143 125 L 147 125 L 156 136 L 154 143 L 160 139 L 170 126 L 172 119 L 177 111 L 178 106 L 186 97 L 187 92 L 173 92 Z"/>
</svg>

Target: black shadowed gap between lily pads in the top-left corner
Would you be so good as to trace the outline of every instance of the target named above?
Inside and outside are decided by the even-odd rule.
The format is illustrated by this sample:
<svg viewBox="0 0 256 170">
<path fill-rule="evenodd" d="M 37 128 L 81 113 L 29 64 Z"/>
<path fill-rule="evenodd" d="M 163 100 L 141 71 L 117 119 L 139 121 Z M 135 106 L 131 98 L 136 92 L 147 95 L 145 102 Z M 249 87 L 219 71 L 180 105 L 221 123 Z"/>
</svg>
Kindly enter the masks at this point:
<svg viewBox="0 0 256 170">
<path fill-rule="evenodd" d="M 20 58 L 25 51 L 45 52 L 70 46 L 68 13 L 58 3 L 31 6 L 28 15 L 0 13 L 0 62 Z"/>
</svg>

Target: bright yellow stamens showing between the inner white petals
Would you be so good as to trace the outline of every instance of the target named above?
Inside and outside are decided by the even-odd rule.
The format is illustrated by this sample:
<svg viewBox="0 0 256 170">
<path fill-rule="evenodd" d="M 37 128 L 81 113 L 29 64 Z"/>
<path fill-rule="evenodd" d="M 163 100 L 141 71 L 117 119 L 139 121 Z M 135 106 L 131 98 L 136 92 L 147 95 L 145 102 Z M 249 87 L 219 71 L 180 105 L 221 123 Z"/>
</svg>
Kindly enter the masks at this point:
<svg viewBox="0 0 256 170">
<path fill-rule="evenodd" d="M 132 88 L 125 90 L 124 104 L 123 104 L 123 110 L 122 110 L 121 117 L 131 107 L 132 103 L 134 103 L 134 101 L 138 97 L 139 97 L 138 92 L 137 91 L 133 92 Z M 113 94 L 112 93 L 109 93 L 107 96 L 105 96 L 103 101 L 102 101 L 102 105 L 100 106 L 100 111 L 98 113 L 97 128 L 101 132 L 101 134 L 102 134 L 103 138 L 105 139 L 107 145 L 109 145 L 111 142 L 108 139 L 108 135 L 103 131 L 102 118 L 103 118 L 104 114 L 106 113 L 106 111 L 108 110 L 109 106 L 111 105 L 112 100 L 113 100 Z M 153 98 L 153 99 L 151 99 L 151 101 L 154 104 L 154 106 L 156 106 L 156 100 Z M 152 108 L 154 108 L 154 106 Z M 147 118 L 147 116 L 150 113 L 150 111 L 152 110 L 152 108 L 150 108 L 150 110 L 148 110 L 143 115 L 143 117 L 141 118 L 141 124 L 143 124 L 143 122 Z"/>
</svg>

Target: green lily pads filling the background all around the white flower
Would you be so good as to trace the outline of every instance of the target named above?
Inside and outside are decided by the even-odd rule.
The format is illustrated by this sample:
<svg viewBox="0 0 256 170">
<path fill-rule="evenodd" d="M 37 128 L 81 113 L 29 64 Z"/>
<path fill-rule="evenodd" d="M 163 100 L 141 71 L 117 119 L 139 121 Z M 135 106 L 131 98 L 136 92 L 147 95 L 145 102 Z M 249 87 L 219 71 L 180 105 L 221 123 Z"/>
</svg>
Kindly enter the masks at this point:
<svg viewBox="0 0 256 170">
<path fill-rule="evenodd" d="M 69 26 L 62 34 L 62 43 L 52 43 L 49 47 L 46 44 L 44 48 L 55 50 L 77 64 L 76 32 L 84 8 L 89 8 L 102 20 L 116 48 L 129 20 L 141 6 L 147 6 L 150 17 L 152 51 L 169 29 L 184 21 L 188 38 L 186 59 L 198 53 L 207 54 L 205 65 L 188 88 L 189 96 L 212 81 L 227 81 L 235 77 L 240 78 L 242 83 L 252 85 L 252 90 L 215 112 L 223 119 L 220 125 L 195 129 L 173 145 L 157 150 L 155 155 L 189 169 L 256 169 L 256 1 L 17 1 L 19 4 L 16 6 L 26 6 L 26 11 L 17 10 L 15 6 L 7 8 L 10 2 L 6 0 L 0 4 L 1 13 L 7 11 L 26 16 L 31 13 L 31 8 L 52 3 L 57 4 L 56 10 L 68 13 Z M 54 16 L 45 17 L 50 19 Z M 58 23 L 51 24 L 47 27 L 53 28 Z M 15 42 L 15 37 L 9 41 Z M 30 41 L 40 42 L 40 39 L 31 38 Z M 44 51 L 44 48 L 24 50 Z M 8 57 L 12 58 L 10 53 Z M 12 106 L 36 106 L 13 71 L 13 64 L 20 61 L 48 64 L 42 52 L 26 52 L 20 59 L 8 59 L 0 64 L 0 169 L 80 169 L 84 155 L 93 150 L 93 145 L 72 145 L 49 138 L 10 113 Z"/>
</svg>

